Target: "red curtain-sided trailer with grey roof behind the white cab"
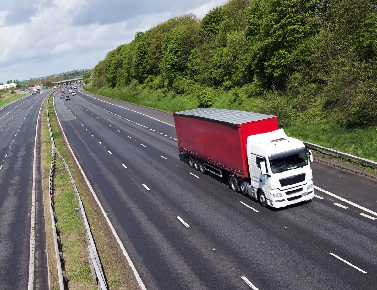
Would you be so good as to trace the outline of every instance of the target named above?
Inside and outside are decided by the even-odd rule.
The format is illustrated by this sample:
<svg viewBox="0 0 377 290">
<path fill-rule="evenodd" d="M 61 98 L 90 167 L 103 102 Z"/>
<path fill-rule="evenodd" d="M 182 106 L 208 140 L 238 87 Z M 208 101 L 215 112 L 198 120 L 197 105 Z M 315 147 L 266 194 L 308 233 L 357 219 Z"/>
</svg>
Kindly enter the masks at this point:
<svg viewBox="0 0 377 290">
<path fill-rule="evenodd" d="M 247 137 L 278 129 L 276 116 L 245 111 L 197 108 L 173 115 L 179 151 L 189 154 L 190 166 L 191 156 L 197 157 L 219 176 L 216 168 L 249 178 Z"/>
</svg>

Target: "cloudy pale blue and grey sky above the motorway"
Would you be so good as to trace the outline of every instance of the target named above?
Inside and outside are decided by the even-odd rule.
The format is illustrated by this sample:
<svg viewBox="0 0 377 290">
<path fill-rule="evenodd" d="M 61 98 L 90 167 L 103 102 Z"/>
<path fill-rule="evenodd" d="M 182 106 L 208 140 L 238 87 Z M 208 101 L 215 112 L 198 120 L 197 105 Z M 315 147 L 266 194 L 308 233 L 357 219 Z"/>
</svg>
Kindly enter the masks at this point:
<svg viewBox="0 0 377 290">
<path fill-rule="evenodd" d="M 136 32 L 227 0 L 0 0 L 0 82 L 92 69 Z"/>
</svg>

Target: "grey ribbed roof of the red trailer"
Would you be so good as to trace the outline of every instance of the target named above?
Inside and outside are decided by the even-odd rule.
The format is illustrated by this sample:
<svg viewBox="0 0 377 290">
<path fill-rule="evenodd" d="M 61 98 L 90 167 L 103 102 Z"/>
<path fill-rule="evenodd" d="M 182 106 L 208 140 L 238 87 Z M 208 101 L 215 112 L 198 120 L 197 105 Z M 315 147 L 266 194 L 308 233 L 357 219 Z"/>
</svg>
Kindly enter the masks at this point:
<svg viewBox="0 0 377 290">
<path fill-rule="evenodd" d="M 197 108 L 182 112 L 176 112 L 174 113 L 174 115 L 188 116 L 196 119 L 213 120 L 219 123 L 224 123 L 233 126 L 276 117 L 272 115 L 265 115 L 259 113 L 215 108 Z"/>
</svg>

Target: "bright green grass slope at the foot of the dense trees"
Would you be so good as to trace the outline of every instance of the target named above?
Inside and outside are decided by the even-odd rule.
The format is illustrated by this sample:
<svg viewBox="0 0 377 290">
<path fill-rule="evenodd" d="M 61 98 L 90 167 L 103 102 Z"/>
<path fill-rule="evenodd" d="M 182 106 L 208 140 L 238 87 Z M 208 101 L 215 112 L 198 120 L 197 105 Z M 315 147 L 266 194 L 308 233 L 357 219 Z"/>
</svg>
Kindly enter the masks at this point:
<svg viewBox="0 0 377 290">
<path fill-rule="evenodd" d="M 107 85 L 104 85 L 101 89 L 93 89 L 92 86 L 85 86 L 84 89 L 98 95 L 167 112 L 189 110 L 197 108 L 199 105 L 194 96 L 182 96 L 173 93 L 164 94 L 162 90 L 143 87 L 139 87 L 138 93 L 135 93 L 129 87 L 111 89 Z M 229 91 L 220 93 L 218 100 L 212 107 L 239 110 L 241 107 L 240 102 L 233 102 L 233 99 Z M 257 98 L 241 96 L 240 101 L 245 110 L 257 111 Z M 375 145 L 377 142 L 377 128 L 375 127 L 346 130 L 336 124 L 335 121 L 327 119 L 309 122 L 296 121 L 289 127 L 285 127 L 284 130 L 289 136 L 300 140 L 377 161 L 377 146 Z M 329 158 L 332 159 L 333 156 Z M 344 161 L 346 162 L 346 160 Z M 360 166 L 356 163 L 354 165 Z M 368 168 L 365 168 L 365 170 L 369 171 Z"/>
</svg>

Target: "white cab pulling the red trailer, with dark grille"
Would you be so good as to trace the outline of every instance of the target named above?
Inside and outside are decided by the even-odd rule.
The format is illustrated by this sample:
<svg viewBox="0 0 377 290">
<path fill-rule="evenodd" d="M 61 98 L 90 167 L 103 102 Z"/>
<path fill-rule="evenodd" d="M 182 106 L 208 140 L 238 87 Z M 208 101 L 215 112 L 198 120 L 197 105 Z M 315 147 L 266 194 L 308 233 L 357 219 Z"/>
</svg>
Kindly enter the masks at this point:
<svg viewBox="0 0 377 290">
<path fill-rule="evenodd" d="M 313 155 L 284 129 L 248 136 L 247 159 L 247 193 L 261 205 L 282 208 L 314 197 Z"/>
</svg>

